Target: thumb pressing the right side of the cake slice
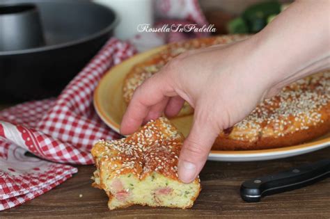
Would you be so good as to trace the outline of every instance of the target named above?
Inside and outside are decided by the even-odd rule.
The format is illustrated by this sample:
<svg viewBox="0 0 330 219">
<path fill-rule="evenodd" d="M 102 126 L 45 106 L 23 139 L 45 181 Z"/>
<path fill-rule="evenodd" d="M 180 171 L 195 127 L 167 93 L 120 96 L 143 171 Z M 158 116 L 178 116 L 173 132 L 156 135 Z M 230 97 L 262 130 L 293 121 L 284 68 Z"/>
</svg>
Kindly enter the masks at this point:
<svg viewBox="0 0 330 219">
<path fill-rule="evenodd" d="M 194 116 L 189 136 L 184 140 L 178 163 L 179 179 L 184 183 L 193 181 L 201 172 L 214 140 L 219 135 L 218 126 Z M 210 121 L 210 120 L 209 120 Z"/>
</svg>

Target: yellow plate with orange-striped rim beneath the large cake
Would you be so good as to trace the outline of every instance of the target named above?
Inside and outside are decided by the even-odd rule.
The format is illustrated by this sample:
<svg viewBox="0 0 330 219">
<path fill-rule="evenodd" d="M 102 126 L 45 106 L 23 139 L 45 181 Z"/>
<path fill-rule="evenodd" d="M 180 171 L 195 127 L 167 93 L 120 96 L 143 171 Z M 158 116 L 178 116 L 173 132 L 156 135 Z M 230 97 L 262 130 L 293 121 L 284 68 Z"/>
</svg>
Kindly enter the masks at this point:
<svg viewBox="0 0 330 219">
<path fill-rule="evenodd" d="M 143 54 L 136 55 L 123 63 L 111 68 L 101 79 L 94 92 L 94 106 L 101 119 L 118 131 L 123 113 L 126 110 L 126 104 L 123 100 L 123 80 L 131 67 L 136 63 L 148 58 L 166 46 L 152 49 Z M 191 127 L 192 116 L 179 117 L 171 120 L 184 136 L 187 136 Z M 263 161 L 271 159 L 280 159 L 288 156 L 296 156 L 313 152 L 317 149 L 330 146 L 330 133 L 311 142 L 291 147 L 280 147 L 274 149 L 245 150 L 245 151 L 219 151 L 212 150 L 209 159 L 212 161 Z"/>
</svg>

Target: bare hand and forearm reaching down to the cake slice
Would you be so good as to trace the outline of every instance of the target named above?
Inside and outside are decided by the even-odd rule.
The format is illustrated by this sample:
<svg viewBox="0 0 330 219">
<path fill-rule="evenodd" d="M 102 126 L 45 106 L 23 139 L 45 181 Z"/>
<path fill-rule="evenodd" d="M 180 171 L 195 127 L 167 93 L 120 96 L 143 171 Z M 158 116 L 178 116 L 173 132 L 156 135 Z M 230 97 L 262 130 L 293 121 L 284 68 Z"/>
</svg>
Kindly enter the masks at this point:
<svg viewBox="0 0 330 219">
<path fill-rule="evenodd" d="M 195 109 L 194 122 L 178 174 L 192 181 L 219 131 L 288 83 L 330 67 L 329 8 L 329 1 L 296 1 L 247 40 L 181 54 L 136 89 L 121 133 L 136 131 L 163 111 L 174 116 L 187 101 Z"/>
</svg>

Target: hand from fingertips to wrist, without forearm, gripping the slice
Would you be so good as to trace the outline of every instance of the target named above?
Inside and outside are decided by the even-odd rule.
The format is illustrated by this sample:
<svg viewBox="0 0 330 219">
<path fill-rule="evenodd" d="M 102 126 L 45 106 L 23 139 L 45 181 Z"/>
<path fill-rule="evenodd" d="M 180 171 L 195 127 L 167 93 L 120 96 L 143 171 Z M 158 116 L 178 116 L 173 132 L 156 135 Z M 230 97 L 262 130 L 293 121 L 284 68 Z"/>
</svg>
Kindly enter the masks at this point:
<svg viewBox="0 0 330 219">
<path fill-rule="evenodd" d="M 269 78 L 252 66 L 251 40 L 181 54 L 134 93 L 121 131 L 165 114 L 175 116 L 184 100 L 194 109 L 194 124 L 180 153 L 179 177 L 198 175 L 219 132 L 248 115 L 267 94 Z M 262 72 L 261 72 L 262 73 Z"/>
</svg>

